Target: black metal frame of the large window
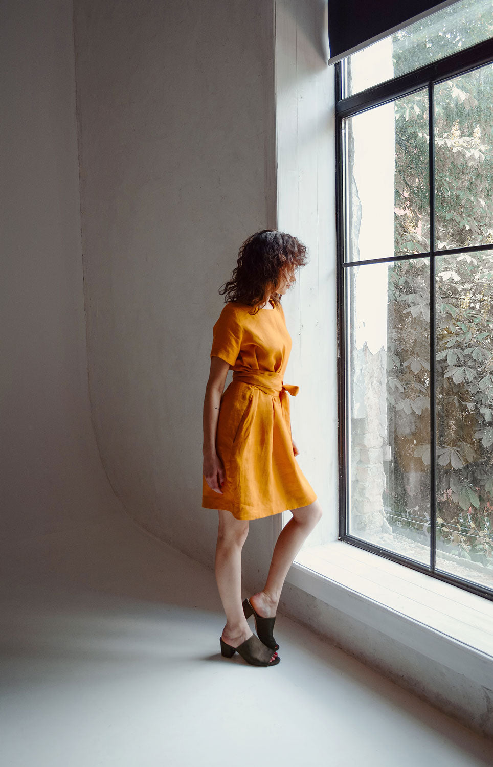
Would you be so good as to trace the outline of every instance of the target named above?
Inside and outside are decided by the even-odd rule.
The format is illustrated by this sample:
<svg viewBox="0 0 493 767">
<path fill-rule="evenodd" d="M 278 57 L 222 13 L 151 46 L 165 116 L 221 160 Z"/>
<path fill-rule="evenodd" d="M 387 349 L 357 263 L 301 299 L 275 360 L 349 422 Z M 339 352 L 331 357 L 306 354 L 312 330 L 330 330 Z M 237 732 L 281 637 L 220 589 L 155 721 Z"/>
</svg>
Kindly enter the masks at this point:
<svg viewBox="0 0 493 767">
<path fill-rule="evenodd" d="M 366 264 L 396 262 L 412 258 L 429 258 L 430 264 L 430 360 L 435 360 L 435 258 L 438 255 L 454 255 L 465 252 L 492 250 L 493 245 L 474 245 L 460 249 L 435 249 L 435 142 L 429 141 L 429 251 L 416 254 L 393 255 L 362 261 L 345 262 L 344 242 L 344 157 L 343 120 L 396 98 L 428 88 L 429 93 L 429 136 L 435 135 L 434 86 L 458 74 L 493 63 L 493 38 L 457 51 L 446 58 L 426 64 L 415 70 L 394 77 L 392 80 L 367 88 L 365 91 L 343 98 L 343 62 L 335 64 L 335 133 L 336 133 L 336 238 L 337 238 L 337 405 L 339 412 L 338 453 L 339 453 L 339 540 L 371 551 L 405 565 L 432 578 L 470 591 L 493 601 L 493 589 L 475 584 L 445 572 L 436 571 L 436 409 L 435 409 L 435 364 L 430 365 L 430 563 L 422 565 L 386 548 L 363 541 L 347 532 L 347 386 L 349 371 L 346 350 L 346 294 L 344 269 Z"/>
</svg>

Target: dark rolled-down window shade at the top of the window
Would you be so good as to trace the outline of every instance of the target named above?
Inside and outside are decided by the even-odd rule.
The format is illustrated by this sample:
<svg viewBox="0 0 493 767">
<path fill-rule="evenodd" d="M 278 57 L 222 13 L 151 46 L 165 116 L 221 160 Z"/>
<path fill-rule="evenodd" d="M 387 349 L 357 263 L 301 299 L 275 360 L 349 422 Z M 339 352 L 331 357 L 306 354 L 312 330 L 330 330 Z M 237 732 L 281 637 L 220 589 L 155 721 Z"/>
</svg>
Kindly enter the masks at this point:
<svg viewBox="0 0 493 767">
<path fill-rule="evenodd" d="M 456 0 L 329 0 L 329 64 L 366 48 L 366 45 L 421 18 L 452 5 Z"/>
</svg>

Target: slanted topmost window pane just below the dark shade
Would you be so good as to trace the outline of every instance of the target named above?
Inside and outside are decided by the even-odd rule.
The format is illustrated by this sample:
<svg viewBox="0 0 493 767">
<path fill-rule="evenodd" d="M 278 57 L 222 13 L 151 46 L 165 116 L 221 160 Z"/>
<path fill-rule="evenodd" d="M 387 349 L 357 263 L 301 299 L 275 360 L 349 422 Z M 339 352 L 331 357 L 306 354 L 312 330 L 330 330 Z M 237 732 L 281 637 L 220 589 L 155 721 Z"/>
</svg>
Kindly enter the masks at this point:
<svg viewBox="0 0 493 767">
<path fill-rule="evenodd" d="M 491 0 L 462 0 L 344 59 L 344 95 L 366 90 L 488 40 Z"/>
</svg>

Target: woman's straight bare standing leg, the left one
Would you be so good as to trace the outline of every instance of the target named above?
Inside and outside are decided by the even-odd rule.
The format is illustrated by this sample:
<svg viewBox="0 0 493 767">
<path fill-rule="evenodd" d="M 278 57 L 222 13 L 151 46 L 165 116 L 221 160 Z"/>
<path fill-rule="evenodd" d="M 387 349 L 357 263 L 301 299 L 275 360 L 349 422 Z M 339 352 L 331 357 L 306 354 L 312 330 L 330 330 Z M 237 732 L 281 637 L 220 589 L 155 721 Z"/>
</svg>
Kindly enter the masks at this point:
<svg viewBox="0 0 493 767">
<path fill-rule="evenodd" d="M 232 647 L 238 647 L 252 634 L 242 607 L 242 548 L 247 535 L 248 520 L 236 519 L 231 512 L 219 509 L 215 580 L 226 614 L 222 640 Z M 273 657 L 277 654 L 273 653 Z"/>
</svg>

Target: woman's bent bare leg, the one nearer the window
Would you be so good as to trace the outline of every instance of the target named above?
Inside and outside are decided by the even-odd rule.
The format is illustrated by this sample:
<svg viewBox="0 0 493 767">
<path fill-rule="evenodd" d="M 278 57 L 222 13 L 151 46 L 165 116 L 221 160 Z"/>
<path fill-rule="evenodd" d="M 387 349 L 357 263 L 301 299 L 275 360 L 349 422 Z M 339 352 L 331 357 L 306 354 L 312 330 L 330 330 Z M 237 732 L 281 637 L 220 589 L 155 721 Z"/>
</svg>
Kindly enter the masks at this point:
<svg viewBox="0 0 493 767">
<path fill-rule="evenodd" d="M 314 501 L 308 506 L 292 509 L 291 514 L 293 518 L 282 528 L 274 547 L 265 587 L 250 597 L 251 604 L 261 617 L 274 617 L 288 570 L 305 539 L 319 522 L 322 508 L 318 501 Z"/>
</svg>

